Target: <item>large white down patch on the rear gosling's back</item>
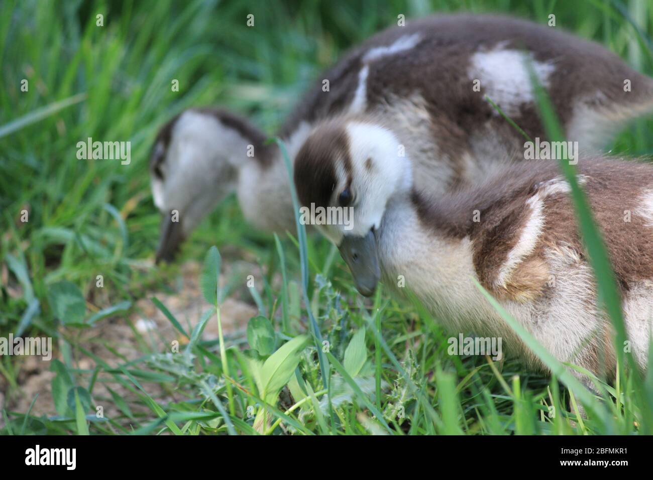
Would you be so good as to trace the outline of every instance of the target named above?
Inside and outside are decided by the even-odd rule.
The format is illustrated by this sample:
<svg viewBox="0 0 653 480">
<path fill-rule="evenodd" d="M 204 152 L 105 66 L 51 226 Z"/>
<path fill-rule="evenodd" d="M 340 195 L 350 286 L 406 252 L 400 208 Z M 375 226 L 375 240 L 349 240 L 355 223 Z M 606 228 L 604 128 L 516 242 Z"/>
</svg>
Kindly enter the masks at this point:
<svg viewBox="0 0 653 480">
<path fill-rule="evenodd" d="M 549 76 L 556 68 L 552 63 L 535 61 L 532 54 L 505 49 L 502 44 L 489 52 L 473 54 L 468 75 L 471 82 L 480 80 L 483 91 L 506 115 L 514 116 L 522 104 L 534 101 L 528 62 L 540 84 L 548 89 Z M 496 110 L 494 113 L 499 114 Z"/>
</svg>

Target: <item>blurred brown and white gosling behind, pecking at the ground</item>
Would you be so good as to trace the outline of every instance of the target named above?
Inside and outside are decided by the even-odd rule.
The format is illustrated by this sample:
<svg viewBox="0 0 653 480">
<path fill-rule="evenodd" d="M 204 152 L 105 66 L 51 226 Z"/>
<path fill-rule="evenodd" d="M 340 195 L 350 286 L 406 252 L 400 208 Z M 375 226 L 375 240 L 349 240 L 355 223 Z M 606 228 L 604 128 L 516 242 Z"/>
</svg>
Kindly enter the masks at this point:
<svg viewBox="0 0 653 480">
<path fill-rule="evenodd" d="M 653 81 L 596 43 L 515 18 L 441 15 L 409 20 L 353 48 L 317 77 L 278 136 L 294 159 L 324 122 L 374 115 L 402 140 L 422 188 L 439 194 L 473 184 L 524 141 L 486 95 L 532 138 L 544 136 L 526 60 L 567 138 L 584 150 L 599 150 L 626 121 L 653 109 Z M 249 121 L 203 108 L 161 129 L 150 161 L 154 201 L 164 216 L 157 259 L 171 259 L 182 238 L 233 191 L 256 227 L 294 231 L 287 172 L 265 139 Z M 178 210 L 178 222 L 171 210 Z"/>
</svg>

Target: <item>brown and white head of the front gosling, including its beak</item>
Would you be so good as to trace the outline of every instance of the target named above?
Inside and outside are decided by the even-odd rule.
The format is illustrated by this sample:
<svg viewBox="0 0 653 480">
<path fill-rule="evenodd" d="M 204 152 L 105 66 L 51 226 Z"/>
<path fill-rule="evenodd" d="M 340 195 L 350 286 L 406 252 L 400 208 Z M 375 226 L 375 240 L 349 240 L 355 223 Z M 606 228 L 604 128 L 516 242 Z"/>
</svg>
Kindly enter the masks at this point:
<svg viewBox="0 0 653 480">
<path fill-rule="evenodd" d="M 381 276 L 376 232 L 387 203 L 409 191 L 410 182 L 404 146 L 375 123 L 320 125 L 296 156 L 299 200 L 311 212 L 311 223 L 340 249 L 362 295 L 372 295 Z"/>
</svg>

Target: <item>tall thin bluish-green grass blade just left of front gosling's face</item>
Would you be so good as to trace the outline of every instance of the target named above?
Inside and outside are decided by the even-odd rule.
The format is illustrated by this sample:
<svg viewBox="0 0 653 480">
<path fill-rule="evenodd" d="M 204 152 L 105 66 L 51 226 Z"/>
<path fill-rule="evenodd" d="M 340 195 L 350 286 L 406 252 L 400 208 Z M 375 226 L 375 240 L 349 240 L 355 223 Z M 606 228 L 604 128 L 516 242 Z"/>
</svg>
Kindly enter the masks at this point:
<svg viewBox="0 0 653 480">
<path fill-rule="evenodd" d="M 302 270 L 302 295 L 304 296 L 304 303 L 306 304 L 306 313 L 308 313 L 308 318 L 310 319 L 311 333 L 313 334 L 313 340 L 315 340 L 315 347 L 317 347 L 317 359 L 320 363 L 322 383 L 326 389 L 327 360 L 325 359 L 324 353 L 322 352 L 322 335 L 320 333 L 319 327 L 317 326 L 317 321 L 315 321 L 315 317 L 313 317 L 313 312 L 311 312 L 311 302 L 308 298 L 308 249 L 306 248 L 306 225 L 303 225 L 299 221 L 299 199 L 297 198 L 297 192 L 295 190 L 295 182 L 293 182 L 293 165 L 290 162 L 290 157 L 288 156 L 288 152 L 283 141 L 280 138 L 274 138 L 274 141 L 279 146 L 279 150 L 281 150 L 281 155 L 283 156 L 283 161 L 285 162 L 286 170 L 288 172 L 290 193 L 293 199 L 293 210 L 295 210 L 297 239 L 299 241 L 299 254 Z"/>
</svg>

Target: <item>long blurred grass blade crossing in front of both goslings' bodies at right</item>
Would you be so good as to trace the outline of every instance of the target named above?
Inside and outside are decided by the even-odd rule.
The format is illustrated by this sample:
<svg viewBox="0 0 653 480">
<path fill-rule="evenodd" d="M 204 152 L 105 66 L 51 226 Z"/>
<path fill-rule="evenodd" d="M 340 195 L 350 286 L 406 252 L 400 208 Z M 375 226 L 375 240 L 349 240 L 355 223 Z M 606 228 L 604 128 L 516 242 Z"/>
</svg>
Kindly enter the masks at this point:
<svg viewBox="0 0 653 480">
<path fill-rule="evenodd" d="M 552 142 L 562 142 L 565 140 L 564 134 L 553 106 L 550 103 L 549 96 L 539 83 L 533 66 L 530 63 L 526 65 L 530 72 L 537 106 L 545 131 L 547 132 L 547 137 Z M 565 180 L 567 180 L 571 187 L 571 199 L 573 200 L 576 211 L 581 237 L 587 249 L 590 265 L 594 270 L 594 276 L 596 278 L 599 303 L 602 304 L 605 312 L 608 313 L 616 332 L 614 349 L 616 350 L 618 365 L 623 367 L 627 363 L 629 366 L 635 385 L 635 394 L 639 399 L 639 405 L 641 406 L 641 413 L 643 415 L 642 427 L 645 432 L 650 433 L 653 431 L 653 408 L 651 406 L 651 400 L 646 396 L 644 384 L 639 374 L 639 368 L 635 364 L 633 355 L 624 355 L 624 345 L 626 345 L 628 336 L 624 323 L 621 296 L 616 285 L 616 279 L 607 249 L 605 248 L 605 243 L 603 242 L 603 237 L 596 227 L 596 222 L 594 221 L 587 197 L 578 184 L 575 165 L 570 163 L 566 157 L 558 159 L 558 164 L 565 176 Z"/>
</svg>

